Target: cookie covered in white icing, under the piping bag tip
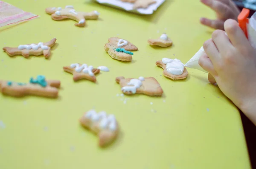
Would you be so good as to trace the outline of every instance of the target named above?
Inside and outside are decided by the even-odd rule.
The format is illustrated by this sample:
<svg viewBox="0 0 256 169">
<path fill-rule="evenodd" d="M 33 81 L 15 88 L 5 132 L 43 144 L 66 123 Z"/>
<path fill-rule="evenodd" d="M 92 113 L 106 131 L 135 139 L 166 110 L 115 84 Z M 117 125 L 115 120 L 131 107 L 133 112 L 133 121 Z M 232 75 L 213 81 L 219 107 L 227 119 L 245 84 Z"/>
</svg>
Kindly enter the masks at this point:
<svg viewBox="0 0 256 169">
<path fill-rule="evenodd" d="M 163 75 L 172 80 L 186 79 L 189 74 L 178 59 L 163 58 L 162 61 L 157 61 L 156 65 L 163 68 Z"/>
</svg>

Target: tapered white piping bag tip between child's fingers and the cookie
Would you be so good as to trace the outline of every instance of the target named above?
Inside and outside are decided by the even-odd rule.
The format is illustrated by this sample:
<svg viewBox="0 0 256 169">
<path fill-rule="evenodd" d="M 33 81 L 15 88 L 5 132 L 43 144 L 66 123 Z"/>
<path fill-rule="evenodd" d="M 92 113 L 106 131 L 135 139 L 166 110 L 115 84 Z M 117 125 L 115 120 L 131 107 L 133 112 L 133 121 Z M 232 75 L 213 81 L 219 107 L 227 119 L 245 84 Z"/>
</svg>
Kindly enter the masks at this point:
<svg viewBox="0 0 256 169">
<path fill-rule="evenodd" d="M 200 59 L 200 57 L 204 54 L 204 48 L 201 47 L 199 49 L 199 51 L 189 60 L 189 62 L 187 62 L 185 64 L 185 66 L 187 68 L 192 68 L 192 69 L 197 69 L 197 70 L 201 70 L 205 73 L 208 73 L 207 71 L 205 71 L 203 68 L 201 68 L 201 66 L 198 64 L 198 61 Z"/>
</svg>

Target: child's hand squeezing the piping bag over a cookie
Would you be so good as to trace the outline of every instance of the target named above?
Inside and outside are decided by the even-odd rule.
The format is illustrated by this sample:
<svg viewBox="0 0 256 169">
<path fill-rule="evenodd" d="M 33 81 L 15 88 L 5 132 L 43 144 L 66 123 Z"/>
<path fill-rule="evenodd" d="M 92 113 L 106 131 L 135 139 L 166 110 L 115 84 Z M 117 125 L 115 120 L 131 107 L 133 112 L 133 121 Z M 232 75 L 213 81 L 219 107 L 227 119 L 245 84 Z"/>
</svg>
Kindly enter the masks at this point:
<svg viewBox="0 0 256 169">
<path fill-rule="evenodd" d="M 199 65 L 209 72 L 209 81 L 256 124 L 256 50 L 235 20 L 224 23 L 204 43 L 206 54 Z"/>
</svg>

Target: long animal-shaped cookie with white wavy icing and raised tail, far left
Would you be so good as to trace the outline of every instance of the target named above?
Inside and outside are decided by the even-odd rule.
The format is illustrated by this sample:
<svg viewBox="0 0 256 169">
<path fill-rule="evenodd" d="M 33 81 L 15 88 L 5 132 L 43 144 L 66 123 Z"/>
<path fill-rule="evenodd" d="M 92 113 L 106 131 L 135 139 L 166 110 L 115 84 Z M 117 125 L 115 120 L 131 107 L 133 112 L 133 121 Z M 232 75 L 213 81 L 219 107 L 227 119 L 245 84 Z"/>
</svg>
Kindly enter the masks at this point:
<svg viewBox="0 0 256 169">
<path fill-rule="evenodd" d="M 17 48 L 4 47 L 5 51 L 9 56 L 22 55 L 24 58 L 29 58 L 30 55 L 39 56 L 44 55 L 47 59 L 51 54 L 51 47 L 55 44 L 56 38 L 49 42 L 39 42 L 38 44 L 19 45 Z"/>
</svg>

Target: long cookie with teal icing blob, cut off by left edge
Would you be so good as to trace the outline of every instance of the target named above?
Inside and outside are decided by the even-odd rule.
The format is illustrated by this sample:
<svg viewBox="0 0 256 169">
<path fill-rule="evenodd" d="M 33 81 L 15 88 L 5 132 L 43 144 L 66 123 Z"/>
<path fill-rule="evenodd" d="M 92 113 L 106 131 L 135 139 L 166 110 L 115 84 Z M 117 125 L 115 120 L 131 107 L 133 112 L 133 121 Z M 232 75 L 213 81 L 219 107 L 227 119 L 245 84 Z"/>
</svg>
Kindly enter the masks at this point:
<svg viewBox="0 0 256 169">
<path fill-rule="evenodd" d="M 44 96 L 55 98 L 58 96 L 58 80 L 46 80 L 44 76 L 31 78 L 29 83 L 19 83 L 0 80 L 0 89 L 4 95 L 22 97 L 26 95 Z"/>
</svg>

